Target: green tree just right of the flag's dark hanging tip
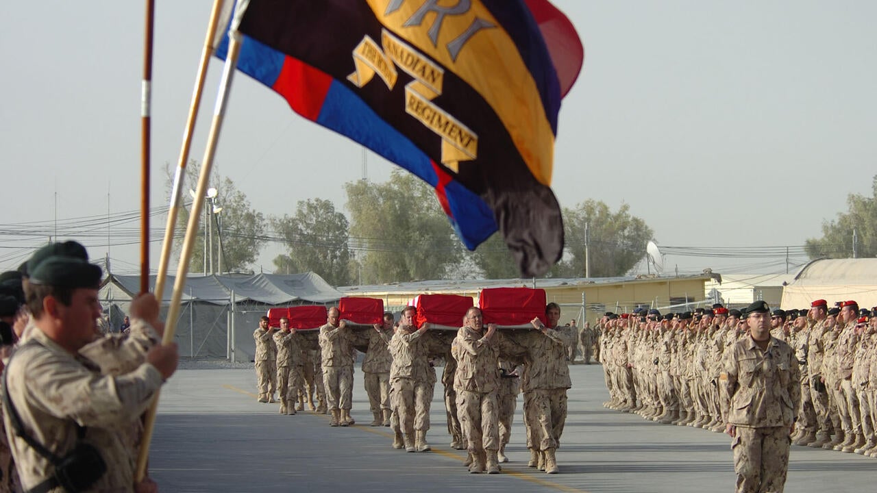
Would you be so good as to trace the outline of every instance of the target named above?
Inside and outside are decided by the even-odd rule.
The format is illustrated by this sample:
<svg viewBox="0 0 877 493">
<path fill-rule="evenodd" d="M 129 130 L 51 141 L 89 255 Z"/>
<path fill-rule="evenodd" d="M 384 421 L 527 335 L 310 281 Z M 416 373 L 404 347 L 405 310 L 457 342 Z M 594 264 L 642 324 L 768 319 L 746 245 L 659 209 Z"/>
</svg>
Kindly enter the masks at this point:
<svg viewBox="0 0 877 493">
<path fill-rule="evenodd" d="M 552 270 L 557 277 L 585 275 L 586 225 L 591 277 L 624 275 L 643 258 L 645 244 L 652 239 L 652 228 L 631 216 L 628 204 L 613 212 L 602 201 L 587 200 L 574 209 L 564 208 L 563 221 L 566 254 Z"/>
</svg>

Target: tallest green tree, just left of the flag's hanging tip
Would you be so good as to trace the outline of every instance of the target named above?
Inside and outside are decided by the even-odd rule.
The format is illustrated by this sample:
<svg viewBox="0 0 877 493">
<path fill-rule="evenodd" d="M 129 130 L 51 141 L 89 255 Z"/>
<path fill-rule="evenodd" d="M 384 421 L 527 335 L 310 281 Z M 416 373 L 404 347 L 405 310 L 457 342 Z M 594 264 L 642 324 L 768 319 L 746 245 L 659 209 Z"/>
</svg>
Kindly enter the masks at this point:
<svg viewBox="0 0 877 493">
<path fill-rule="evenodd" d="M 348 182 L 347 210 L 361 281 L 443 279 L 465 248 L 439 206 L 435 190 L 401 169 L 389 182 Z"/>
</svg>

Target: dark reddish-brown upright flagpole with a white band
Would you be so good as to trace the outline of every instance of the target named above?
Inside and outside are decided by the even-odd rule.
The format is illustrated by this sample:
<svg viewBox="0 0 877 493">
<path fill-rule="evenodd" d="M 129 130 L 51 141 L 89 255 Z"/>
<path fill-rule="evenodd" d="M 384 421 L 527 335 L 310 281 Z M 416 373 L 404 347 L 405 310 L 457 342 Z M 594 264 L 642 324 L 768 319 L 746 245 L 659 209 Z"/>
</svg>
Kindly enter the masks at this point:
<svg viewBox="0 0 877 493">
<path fill-rule="evenodd" d="M 155 1 L 146 0 L 146 32 L 143 49 L 143 85 L 140 90 L 140 292 L 149 291 L 149 139 L 152 112 L 153 25 Z"/>
</svg>

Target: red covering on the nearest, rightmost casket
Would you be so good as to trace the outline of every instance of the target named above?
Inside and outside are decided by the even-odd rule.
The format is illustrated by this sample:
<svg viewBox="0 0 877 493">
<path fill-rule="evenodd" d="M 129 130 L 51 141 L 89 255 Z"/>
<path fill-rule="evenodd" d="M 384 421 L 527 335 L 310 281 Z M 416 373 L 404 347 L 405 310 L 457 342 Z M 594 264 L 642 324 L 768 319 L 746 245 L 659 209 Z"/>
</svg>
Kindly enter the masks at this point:
<svg viewBox="0 0 877 493">
<path fill-rule="evenodd" d="M 545 318 L 545 289 L 490 288 L 481 289 L 478 307 L 484 316 L 484 324 L 503 327 L 532 326 L 530 321 Z"/>
</svg>

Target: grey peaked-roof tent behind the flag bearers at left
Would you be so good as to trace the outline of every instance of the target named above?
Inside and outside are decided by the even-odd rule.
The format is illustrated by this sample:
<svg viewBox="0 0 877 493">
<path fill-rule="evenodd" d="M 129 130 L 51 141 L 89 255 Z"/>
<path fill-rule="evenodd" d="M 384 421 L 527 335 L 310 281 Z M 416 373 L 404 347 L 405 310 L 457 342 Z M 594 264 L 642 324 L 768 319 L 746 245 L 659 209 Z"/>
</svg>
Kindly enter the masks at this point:
<svg viewBox="0 0 877 493">
<path fill-rule="evenodd" d="M 111 274 L 100 289 L 101 303 L 111 330 L 118 330 L 139 291 L 138 275 Z M 168 276 L 162 315 L 174 289 Z M 149 288 L 155 286 L 150 276 Z M 182 295 L 175 341 L 180 355 L 191 358 L 230 358 L 251 361 L 255 354 L 253 330 L 259 318 L 275 307 L 297 304 L 333 304 L 343 297 L 312 272 L 294 275 L 190 275 Z"/>
</svg>

